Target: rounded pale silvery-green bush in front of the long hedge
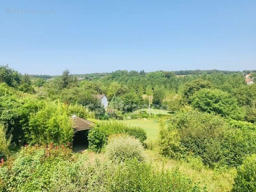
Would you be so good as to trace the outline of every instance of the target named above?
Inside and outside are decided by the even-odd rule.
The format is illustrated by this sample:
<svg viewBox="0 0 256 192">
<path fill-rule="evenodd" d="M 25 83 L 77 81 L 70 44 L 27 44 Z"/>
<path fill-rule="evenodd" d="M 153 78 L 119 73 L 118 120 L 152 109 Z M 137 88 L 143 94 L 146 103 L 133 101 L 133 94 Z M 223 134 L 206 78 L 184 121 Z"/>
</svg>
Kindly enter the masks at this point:
<svg viewBox="0 0 256 192">
<path fill-rule="evenodd" d="M 123 162 L 127 159 L 137 159 L 144 161 L 145 152 L 138 139 L 130 136 L 117 135 L 108 141 L 106 146 L 106 156 L 115 162 Z"/>
</svg>

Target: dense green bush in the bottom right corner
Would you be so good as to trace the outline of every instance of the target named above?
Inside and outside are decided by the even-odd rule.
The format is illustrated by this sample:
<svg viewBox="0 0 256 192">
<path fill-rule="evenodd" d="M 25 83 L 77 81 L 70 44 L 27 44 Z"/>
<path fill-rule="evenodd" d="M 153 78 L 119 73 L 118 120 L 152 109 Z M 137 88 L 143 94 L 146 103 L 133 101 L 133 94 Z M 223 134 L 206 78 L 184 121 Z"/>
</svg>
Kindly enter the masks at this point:
<svg viewBox="0 0 256 192">
<path fill-rule="evenodd" d="M 233 184 L 233 192 L 256 191 L 256 155 L 253 154 L 244 160 L 238 167 Z"/>
</svg>

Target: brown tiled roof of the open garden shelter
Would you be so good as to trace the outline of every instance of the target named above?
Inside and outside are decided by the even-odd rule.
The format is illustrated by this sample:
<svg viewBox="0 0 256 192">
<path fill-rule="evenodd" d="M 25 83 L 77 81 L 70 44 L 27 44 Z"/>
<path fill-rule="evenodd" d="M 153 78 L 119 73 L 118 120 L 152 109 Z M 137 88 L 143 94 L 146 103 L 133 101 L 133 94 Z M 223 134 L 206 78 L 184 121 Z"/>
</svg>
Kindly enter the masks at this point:
<svg viewBox="0 0 256 192">
<path fill-rule="evenodd" d="M 92 129 L 92 126 L 94 125 L 92 121 L 80 118 L 76 115 L 73 115 L 70 119 L 72 120 L 72 128 L 75 131 Z"/>
</svg>

